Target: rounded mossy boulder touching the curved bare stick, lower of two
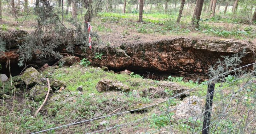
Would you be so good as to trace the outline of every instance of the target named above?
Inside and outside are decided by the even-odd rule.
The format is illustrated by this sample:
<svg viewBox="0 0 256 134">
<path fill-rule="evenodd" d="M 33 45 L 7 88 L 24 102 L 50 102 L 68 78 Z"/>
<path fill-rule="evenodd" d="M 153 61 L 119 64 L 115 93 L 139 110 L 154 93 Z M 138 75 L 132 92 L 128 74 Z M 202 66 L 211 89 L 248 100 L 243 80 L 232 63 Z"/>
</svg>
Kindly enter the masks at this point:
<svg viewBox="0 0 256 134">
<path fill-rule="evenodd" d="M 30 97 L 36 102 L 43 101 L 47 95 L 47 91 L 47 86 L 35 85 L 30 89 Z M 52 89 L 50 89 L 50 93 L 52 93 Z"/>
</svg>

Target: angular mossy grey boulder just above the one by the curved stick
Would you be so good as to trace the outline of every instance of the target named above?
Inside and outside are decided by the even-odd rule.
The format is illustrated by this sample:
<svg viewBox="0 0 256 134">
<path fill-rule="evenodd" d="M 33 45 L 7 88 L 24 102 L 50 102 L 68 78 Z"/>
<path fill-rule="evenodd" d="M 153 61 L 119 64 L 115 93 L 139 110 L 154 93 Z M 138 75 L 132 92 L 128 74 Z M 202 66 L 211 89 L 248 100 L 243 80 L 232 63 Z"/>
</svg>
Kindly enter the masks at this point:
<svg viewBox="0 0 256 134">
<path fill-rule="evenodd" d="M 35 84 L 40 83 L 42 76 L 35 68 L 30 67 L 24 71 L 20 78 L 22 82 L 30 88 L 35 86 Z"/>
</svg>

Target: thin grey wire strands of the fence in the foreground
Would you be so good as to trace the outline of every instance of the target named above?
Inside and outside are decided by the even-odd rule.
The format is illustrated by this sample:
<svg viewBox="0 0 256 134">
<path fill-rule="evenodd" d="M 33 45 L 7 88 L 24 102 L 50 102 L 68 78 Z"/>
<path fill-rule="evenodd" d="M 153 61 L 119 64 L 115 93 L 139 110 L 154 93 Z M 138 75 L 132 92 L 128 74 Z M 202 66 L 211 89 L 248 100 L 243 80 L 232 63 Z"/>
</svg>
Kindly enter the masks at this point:
<svg viewBox="0 0 256 134">
<path fill-rule="evenodd" d="M 213 79 L 211 79 L 211 80 L 205 82 L 204 84 L 200 84 L 200 85 L 198 85 L 198 86 L 196 86 L 196 87 L 194 87 L 194 88 L 191 88 L 191 89 L 189 89 L 189 90 L 187 90 L 187 91 L 184 91 L 184 92 L 182 92 L 182 93 L 179 93 L 179 94 L 177 94 L 177 95 L 175 95 L 175 96 L 173 96 L 173 97 L 171 97 L 171 98 L 169 98 L 169 99 L 166 99 L 166 100 L 164 100 L 164 101 L 161 101 L 161 102 L 158 102 L 158 103 L 149 105 L 149 106 L 145 106 L 145 107 L 142 107 L 142 108 L 138 108 L 138 109 L 135 109 L 135 110 L 129 110 L 129 111 L 125 111 L 125 112 L 121 112 L 121 113 L 117 113 L 117 114 L 112 114 L 112 115 L 97 117 L 97 118 L 93 118 L 93 119 L 89 119 L 89 120 L 79 121 L 79 122 L 75 122 L 75 123 L 71 123 L 71 124 L 67 124 L 67 125 L 62 125 L 62 126 L 59 126 L 59 127 L 50 128 L 50 129 L 42 130 L 42 131 L 39 131 L 39 132 L 35 132 L 35 133 L 33 133 L 33 134 L 41 133 L 41 132 L 46 132 L 46 131 L 51 131 L 51 130 L 55 130 L 55 129 L 58 129 L 58 128 L 67 127 L 67 126 L 70 126 L 70 125 L 76 125 L 76 124 L 80 124 L 80 123 L 86 123 L 86 122 L 90 122 L 90 121 L 94 121 L 94 120 L 98 120 L 98 119 L 102 119 L 102 118 L 106 118 L 106 117 L 112 117 L 112 116 L 117 116 L 117 121 L 116 121 L 116 125 L 115 125 L 115 126 L 109 127 L 109 128 L 105 128 L 105 129 L 102 129 L 102 130 L 98 130 L 98 131 L 95 131 L 95 132 L 90 132 L 89 134 L 91 134 L 91 133 L 97 133 L 97 132 L 102 132 L 102 131 L 105 131 L 105 130 L 108 130 L 108 131 L 109 131 L 109 130 L 114 129 L 114 128 L 118 129 L 119 127 L 126 126 L 126 125 L 129 125 L 129 124 L 131 124 L 131 123 L 136 123 L 136 122 L 140 122 L 140 121 L 143 121 L 143 122 L 144 122 L 145 119 L 148 119 L 148 118 L 150 118 L 150 117 L 159 116 L 159 115 L 161 115 L 161 114 L 166 114 L 166 113 L 169 113 L 170 111 L 173 111 L 173 110 L 175 110 L 175 109 L 177 109 L 177 108 L 180 108 L 180 107 L 182 107 L 182 106 L 186 106 L 186 105 L 191 104 L 191 103 L 193 103 L 193 102 L 196 102 L 196 101 L 198 101 L 199 99 L 205 98 L 207 95 L 213 94 L 213 92 L 211 92 L 211 93 L 209 93 L 209 94 L 206 94 L 206 95 L 202 96 L 201 98 L 194 100 L 193 102 L 190 102 L 190 99 L 189 99 L 189 102 L 188 102 L 188 103 L 185 103 L 185 104 L 183 104 L 183 105 L 181 105 L 181 106 L 176 106 L 176 107 L 173 108 L 173 109 L 170 109 L 170 110 L 167 110 L 167 111 L 164 111 L 164 112 L 161 112 L 161 113 L 152 115 L 152 116 L 148 116 L 148 117 L 145 117 L 145 116 L 144 116 L 144 118 L 138 119 L 138 120 L 136 120 L 136 121 L 131 121 L 131 122 L 128 122 L 128 123 L 124 123 L 124 124 L 118 125 L 118 116 L 121 115 L 121 114 L 130 113 L 130 112 L 135 112 L 135 111 L 138 111 L 138 110 L 143 110 L 143 109 L 146 109 L 146 108 L 149 108 L 149 107 L 152 107 L 152 106 L 156 106 L 156 105 L 161 104 L 161 103 L 163 103 L 163 102 L 167 102 L 167 101 L 169 101 L 169 100 L 171 100 L 171 99 L 174 99 L 174 98 L 176 98 L 176 97 L 178 97 L 178 96 L 180 96 L 180 95 L 182 95 L 182 94 L 185 94 L 186 92 L 190 92 L 190 91 L 192 91 L 192 90 L 194 90 L 194 89 L 196 89 L 196 88 L 198 88 L 198 87 L 201 87 L 201 86 L 203 86 L 203 85 L 209 84 L 209 83 L 211 83 L 213 80 L 218 79 L 220 76 L 226 75 L 227 73 L 230 73 L 230 72 L 233 72 L 233 71 L 240 71 L 240 69 L 242 69 L 242 68 L 244 68 L 244 67 L 246 67 L 246 71 L 247 71 L 248 66 L 250 66 L 250 65 L 255 65 L 255 64 L 256 64 L 256 63 L 252 63 L 252 64 L 245 65 L 245 66 L 242 66 L 242 67 L 240 67 L 240 68 L 237 68 L 237 69 L 234 69 L 234 70 L 231 70 L 231 71 L 227 71 L 227 72 L 222 73 L 222 74 L 220 74 L 220 75 L 214 77 Z M 242 70 L 241 70 L 241 71 L 242 71 Z M 245 71 L 245 72 L 246 72 L 246 71 Z M 250 75 L 253 74 L 253 73 L 255 73 L 255 72 L 250 73 Z M 235 81 L 241 80 L 241 79 L 244 78 L 244 77 L 245 77 L 245 75 L 242 76 L 242 77 L 240 77 L 239 79 L 232 80 L 231 82 L 229 82 L 229 83 L 227 83 L 227 84 L 225 84 L 225 85 L 229 85 L 229 84 L 231 84 L 231 83 L 234 83 Z M 220 89 L 220 88 L 222 88 L 222 87 L 224 87 L 224 85 L 218 87 L 217 89 Z M 216 90 L 217 90 L 217 89 L 216 89 Z M 221 91 L 223 91 L 224 89 L 226 89 L 226 88 L 223 88 L 222 90 L 220 90 L 220 91 L 218 91 L 218 92 L 221 92 Z M 217 92 L 216 90 L 215 90 L 215 92 Z M 233 93 L 233 94 L 234 94 L 234 93 Z M 226 99 L 226 98 L 224 98 L 224 99 Z M 219 102 L 218 104 L 221 104 L 221 102 Z M 227 107 L 227 106 L 226 106 L 226 107 Z M 168 106 L 168 109 L 169 109 L 169 106 Z M 211 110 L 211 109 L 210 109 L 210 110 Z M 206 112 L 206 111 L 205 111 L 205 112 Z M 203 113 L 201 113 L 201 114 L 204 114 L 205 112 L 203 112 Z M 144 114 L 145 114 L 145 112 L 144 112 Z M 201 115 L 201 114 L 200 114 L 200 115 Z M 199 115 L 198 115 L 198 116 L 199 116 Z M 188 121 L 188 120 L 186 120 L 186 121 Z M 184 121 L 183 121 L 183 122 L 184 122 Z M 212 123 L 214 123 L 214 122 L 212 122 Z M 211 124 L 212 124 L 212 123 L 211 123 Z M 181 123 L 178 123 L 178 124 L 181 124 Z M 170 128 L 170 127 L 172 127 L 172 126 L 174 126 L 174 125 L 171 125 L 171 124 L 170 124 L 170 126 L 169 126 L 169 127 L 166 127 L 166 128 Z M 210 126 L 210 125 L 209 125 L 209 126 Z M 208 128 L 209 126 L 207 126 L 207 128 Z M 162 130 L 162 129 L 161 129 L 161 130 Z M 87 131 L 87 130 L 86 130 L 86 131 Z M 159 130 L 157 130 L 157 131 L 159 131 Z M 201 131 L 202 131 L 202 130 L 201 130 Z M 201 132 L 201 131 L 200 131 L 200 132 Z M 86 132 L 86 133 L 87 133 L 87 132 Z"/>
</svg>

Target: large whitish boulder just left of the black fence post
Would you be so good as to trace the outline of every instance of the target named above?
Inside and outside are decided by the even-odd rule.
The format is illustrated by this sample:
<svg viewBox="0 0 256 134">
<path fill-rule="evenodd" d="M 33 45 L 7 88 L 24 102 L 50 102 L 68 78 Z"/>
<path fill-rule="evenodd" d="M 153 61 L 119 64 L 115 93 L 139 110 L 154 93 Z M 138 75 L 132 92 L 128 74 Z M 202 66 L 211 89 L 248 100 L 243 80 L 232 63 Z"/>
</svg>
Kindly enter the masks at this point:
<svg viewBox="0 0 256 134">
<path fill-rule="evenodd" d="M 197 118 L 201 120 L 204 116 L 202 114 L 204 106 L 204 99 L 199 99 L 197 96 L 186 97 L 178 106 L 175 106 L 178 108 L 174 111 L 172 118 L 176 121 L 188 120 L 190 117 L 192 117 L 193 120 L 196 120 Z"/>
</svg>

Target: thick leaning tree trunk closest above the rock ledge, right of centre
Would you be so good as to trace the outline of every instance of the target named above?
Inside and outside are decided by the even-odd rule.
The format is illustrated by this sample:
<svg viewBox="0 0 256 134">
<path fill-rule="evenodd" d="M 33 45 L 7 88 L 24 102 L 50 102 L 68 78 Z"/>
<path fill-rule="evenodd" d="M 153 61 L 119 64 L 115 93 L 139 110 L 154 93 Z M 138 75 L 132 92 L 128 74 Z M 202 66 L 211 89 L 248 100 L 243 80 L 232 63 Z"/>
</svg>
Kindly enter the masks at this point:
<svg viewBox="0 0 256 134">
<path fill-rule="evenodd" d="M 202 8 L 203 8 L 204 0 L 197 0 L 196 6 L 194 9 L 193 17 L 192 17 L 192 25 L 194 27 L 199 27 L 199 21 L 202 13 Z"/>
</svg>

